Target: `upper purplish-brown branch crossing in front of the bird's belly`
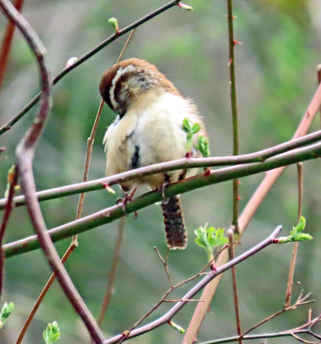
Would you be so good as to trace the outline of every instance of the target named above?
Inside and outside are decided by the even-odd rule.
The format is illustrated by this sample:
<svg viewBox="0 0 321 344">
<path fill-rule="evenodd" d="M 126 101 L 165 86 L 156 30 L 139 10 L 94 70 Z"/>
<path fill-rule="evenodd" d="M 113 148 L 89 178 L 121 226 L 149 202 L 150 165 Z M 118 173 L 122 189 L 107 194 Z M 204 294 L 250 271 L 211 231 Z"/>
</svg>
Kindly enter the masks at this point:
<svg viewBox="0 0 321 344">
<path fill-rule="evenodd" d="M 320 88 L 321 96 L 321 88 Z M 321 102 L 321 97 L 320 97 Z M 268 158 L 276 156 L 280 153 L 289 151 L 294 148 L 306 146 L 307 144 L 321 140 L 321 130 L 312 134 L 306 135 L 293 141 L 281 143 L 278 146 L 271 147 L 255 153 L 238 155 L 235 157 L 214 157 L 214 158 L 183 158 L 169 162 L 144 166 L 139 169 L 127 171 L 111 177 L 105 177 L 86 183 L 71 184 L 54 189 L 38 191 L 36 196 L 39 201 L 51 200 L 54 198 L 77 194 L 80 192 L 93 191 L 104 189 L 105 185 L 113 185 L 123 181 L 128 181 L 137 178 L 137 176 L 145 176 L 153 173 L 166 172 L 170 170 L 180 170 L 184 168 L 193 167 L 210 167 L 210 166 L 226 166 L 226 165 L 240 165 L 243 163 L 265 162 Z M 15 206 L 25 205 L 24 196 L 17 196 L 13 198 Z M 6 198 L 0 200 L 0 209 L 4 208 Z"/>
</svg>

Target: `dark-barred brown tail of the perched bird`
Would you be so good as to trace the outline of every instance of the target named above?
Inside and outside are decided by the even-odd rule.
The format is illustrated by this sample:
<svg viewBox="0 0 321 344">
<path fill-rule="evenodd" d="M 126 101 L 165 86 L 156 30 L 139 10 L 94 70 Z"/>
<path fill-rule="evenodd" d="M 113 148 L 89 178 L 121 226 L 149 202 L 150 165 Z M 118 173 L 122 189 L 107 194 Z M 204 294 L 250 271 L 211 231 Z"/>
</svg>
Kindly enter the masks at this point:
<svg viewBox="0 0 321 344">
<path fill-rule="evenodd" d="M 187 245 L 187 236 L 179 196 L 169 198 L 166 204 L 162 204 L 162 210 L 167 246 L 172 250 L 176 248 L 184 250 Z"/>
</svg>

